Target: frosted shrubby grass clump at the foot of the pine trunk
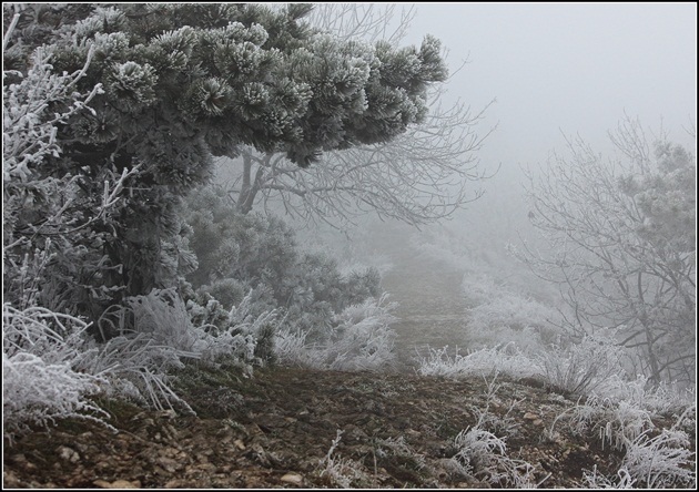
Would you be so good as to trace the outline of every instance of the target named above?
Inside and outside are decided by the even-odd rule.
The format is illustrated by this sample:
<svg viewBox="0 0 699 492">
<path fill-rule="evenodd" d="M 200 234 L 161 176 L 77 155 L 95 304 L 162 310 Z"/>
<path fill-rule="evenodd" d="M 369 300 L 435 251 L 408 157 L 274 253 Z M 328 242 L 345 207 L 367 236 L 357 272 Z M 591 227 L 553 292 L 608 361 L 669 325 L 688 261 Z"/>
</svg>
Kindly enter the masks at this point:
<svg viewBox="0 0 699 492">
<path fill-rule="evenodd" d="M 110 312 L 112 316 L 103 317 L 102 322 L 111 325 L 118 336 L 90 359 L 90 370 L 109 372 L 112 393 L 159 409 L 172 408 L 174 403 L 191 411 L 171 389 L 172 369 L 182 368 L 188 360 L 213 365 L 225 357 L 251 370 L 251 365 L 269 360 L 276 314 L 257 314 L 253 306 L 249 295 L 225 312 L 225 322 L 220 326 L 195 325 L 195 306 L 185 305 L 174 289 L 155 289 L 146 296 L 126 298 L 124 306 Z M 205 310 L 206 306 L 201 308 Z M 219 309 L 216 305 L 214 310 Z"/>
</svg>

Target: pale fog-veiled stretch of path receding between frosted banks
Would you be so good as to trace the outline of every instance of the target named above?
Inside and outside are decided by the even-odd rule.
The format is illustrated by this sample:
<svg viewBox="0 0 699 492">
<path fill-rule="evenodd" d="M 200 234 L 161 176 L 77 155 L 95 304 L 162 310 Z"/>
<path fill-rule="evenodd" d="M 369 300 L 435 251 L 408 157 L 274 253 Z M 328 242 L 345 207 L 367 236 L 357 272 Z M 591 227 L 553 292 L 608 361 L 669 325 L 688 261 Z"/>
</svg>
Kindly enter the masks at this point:
<svg viewBox="0 0 699 492">
<path fill-rule="evenodd" d="M 394 314 L 399 320 L 393 325 L 397 332 L 398 369 L 415 367 L 415 359 L 425 357 L 428 347 L 440 349 L 448 345 L 450 353 L 456 347 L 465 349 L 464 273 L 421 254 L 405 242 L 383 239 L 393 268 L 384 275 L 382 286 L 391 294 L 391 300 L 398 303 Z"/>
</svg>

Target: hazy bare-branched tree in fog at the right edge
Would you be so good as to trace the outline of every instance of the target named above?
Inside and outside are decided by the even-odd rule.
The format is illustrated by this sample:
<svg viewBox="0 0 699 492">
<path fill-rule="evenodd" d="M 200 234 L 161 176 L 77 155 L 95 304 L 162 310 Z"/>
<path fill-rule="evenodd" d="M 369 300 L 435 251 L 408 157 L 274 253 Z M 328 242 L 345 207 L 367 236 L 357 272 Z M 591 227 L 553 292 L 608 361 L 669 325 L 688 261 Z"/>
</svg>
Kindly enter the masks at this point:
<svg viewBox="0 0 699 492">
<path fill-rule="evenodd" d="M 609 134 L 604 161 L 580 137 L 529 174 L 529 218 L 551 254 L 524 257 L 555 281 L 578 335 L 614 329 L 651 380 L 695 380 L 696 157 L 638 121 Z M 651 152 L 652 148 L 652 152 Z"/>
</svg>

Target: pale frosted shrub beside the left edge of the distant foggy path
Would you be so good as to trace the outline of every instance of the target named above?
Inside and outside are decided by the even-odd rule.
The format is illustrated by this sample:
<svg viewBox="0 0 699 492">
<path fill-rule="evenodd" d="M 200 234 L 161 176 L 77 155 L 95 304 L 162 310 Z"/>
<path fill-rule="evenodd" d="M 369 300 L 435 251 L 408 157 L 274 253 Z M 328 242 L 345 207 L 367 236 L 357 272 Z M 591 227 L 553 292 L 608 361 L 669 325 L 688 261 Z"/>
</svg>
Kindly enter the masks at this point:
<svg viewBox="0 0 699 492">
<path fill-rule="evenodd" d="M 308 341 L 307 332 L 286 327 L 276 336 L 282 362 L 336 370 L 376 370 L 394 358 L 394 305 L 387 296 L 348 306 L 333 318 L 323 338 Z"/>
</svg>

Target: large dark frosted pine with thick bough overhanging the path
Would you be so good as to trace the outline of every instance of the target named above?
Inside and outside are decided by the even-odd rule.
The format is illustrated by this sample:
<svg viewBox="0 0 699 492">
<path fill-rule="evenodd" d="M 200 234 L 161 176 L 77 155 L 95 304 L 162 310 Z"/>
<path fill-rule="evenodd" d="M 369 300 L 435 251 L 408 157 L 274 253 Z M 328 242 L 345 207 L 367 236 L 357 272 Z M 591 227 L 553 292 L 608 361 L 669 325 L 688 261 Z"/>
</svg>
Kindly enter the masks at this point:
<svg viewBox="0 0 699 492">
<path fill-rule="evenodd" d="M 152 3 L 21 11 L 3 52 L 6 70 L 28 73 L 44 45 L 52 73 L 84 68 L 72 90 L 102 86 L 91 111 L 58 122 L 61 153 L 31 167 L 41 180 L 75 176 L 78 221 L 100 234 L 83 246 L 103 255 L 102 274 L 85 275 L 81 288 L 109 293 L 109 304 L 168 287 L 191 269 L 178 207 L 207 180 L 213 156 L 252 145 L 308 166 L 324 151 L 385 142 L 424 117 L 427 88 L 446 76 L 438 41 L 396 49 L 340 40 L 304 23 L 311 9 Z M 67 111 L 63 100 L 45 104 Z M 93 224 L 104 181 L 134 167 L 119 214 Z M 12 224 L 22 234 L 21 221 Z"/>
</svg>

